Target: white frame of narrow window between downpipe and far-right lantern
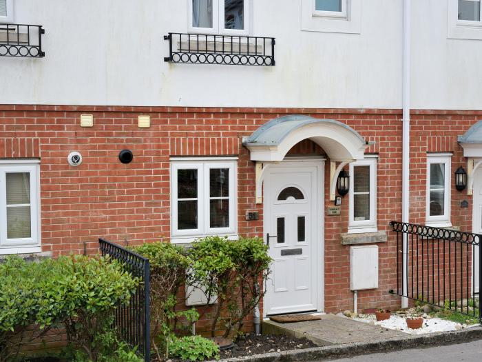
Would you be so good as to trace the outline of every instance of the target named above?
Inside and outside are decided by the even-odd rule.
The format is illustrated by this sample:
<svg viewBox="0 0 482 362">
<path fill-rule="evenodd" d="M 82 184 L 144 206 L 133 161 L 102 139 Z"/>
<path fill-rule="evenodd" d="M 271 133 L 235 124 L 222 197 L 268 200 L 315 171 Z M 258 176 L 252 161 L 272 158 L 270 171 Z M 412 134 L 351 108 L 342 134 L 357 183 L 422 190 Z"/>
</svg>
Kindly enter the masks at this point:
<svg viewBox="0 0 482 362">
<path fill-rule="evenodd" d="M 443 194 L 443 215 L 430 216 L 430 165 L 432 163 L 443 163 L 444 167 L 444 194 Z M 426 224 L 430 226 L 451 227 L 450 222 L 450 200 L 452 193 L 452 154 L 428 154 L 427 155 L 427 185 L 426 185 Z"/>
</svg>

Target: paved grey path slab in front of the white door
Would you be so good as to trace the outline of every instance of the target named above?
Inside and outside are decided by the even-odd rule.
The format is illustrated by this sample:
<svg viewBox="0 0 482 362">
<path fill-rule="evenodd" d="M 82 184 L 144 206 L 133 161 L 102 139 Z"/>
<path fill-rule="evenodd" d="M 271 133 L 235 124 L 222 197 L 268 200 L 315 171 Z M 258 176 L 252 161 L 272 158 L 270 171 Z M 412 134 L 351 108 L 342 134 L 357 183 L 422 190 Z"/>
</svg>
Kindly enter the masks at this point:
<svg viewBox="0 0 482 362">
<path fill-rule="evenodd" d="M 344 345 L 348 343 L 368 343 L 386 339 L 403 338 L 404 332 L 388 330 L 379 325 L 353 321 L 334 314 L 325 314 L 319 321 L 296 323 L 277 323 L 263 321 L 263 334 L 287 334 L 297 338 L 306 338 L 316 345 Z"/>
</svg>

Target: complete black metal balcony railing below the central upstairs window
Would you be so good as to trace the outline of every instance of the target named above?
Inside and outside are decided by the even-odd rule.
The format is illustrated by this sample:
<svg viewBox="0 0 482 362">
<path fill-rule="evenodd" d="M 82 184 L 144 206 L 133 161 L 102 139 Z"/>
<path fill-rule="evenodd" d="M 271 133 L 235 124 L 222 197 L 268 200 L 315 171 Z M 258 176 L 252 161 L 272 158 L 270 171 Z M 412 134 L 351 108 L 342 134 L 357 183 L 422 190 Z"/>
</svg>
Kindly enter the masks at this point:
<svg viewBox="0 0 482 362">
<path fill-rule="evenodd" d="M 275 38 L 169 32 L 171 63 L 275 66 Z"/>
</svg>

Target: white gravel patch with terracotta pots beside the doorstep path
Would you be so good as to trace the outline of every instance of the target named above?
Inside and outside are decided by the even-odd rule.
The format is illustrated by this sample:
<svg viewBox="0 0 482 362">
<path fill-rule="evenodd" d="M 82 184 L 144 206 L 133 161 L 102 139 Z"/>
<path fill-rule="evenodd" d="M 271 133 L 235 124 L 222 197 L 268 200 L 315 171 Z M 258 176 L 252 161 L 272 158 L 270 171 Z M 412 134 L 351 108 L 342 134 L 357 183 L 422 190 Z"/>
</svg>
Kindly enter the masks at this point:
<svg viewBox="0 0 482 362">
<path fill-rule="evenodd" d="M 380 325 L 381 327 L 388 328 L 390 330 L 399 330 L 401 332 L 405 332 L 408 334 L 425 334 L 425 333 L 433 333 L 433 332 L 450 332 L 454 330 L 461 330 L 463 325 L 460 323 L 455 323 L 452 321 L 446 321 L 445 319 L 440 318 L 432 318 L 432 319 L 423 319 L 423 326 L 418 330 L 411 330 L 407 327 L 407 323 L 405 318 L 401 316 L 397 316 L 392 314 L 390 319 L 386 321 L 379 321 L 375 318 L 373 314 L 364 314 L 360 315 L 357 318 L 354 318 L 355 321 L 364 322 L 364 323 L 371 323 L 375 325 Z"/>
</svg>

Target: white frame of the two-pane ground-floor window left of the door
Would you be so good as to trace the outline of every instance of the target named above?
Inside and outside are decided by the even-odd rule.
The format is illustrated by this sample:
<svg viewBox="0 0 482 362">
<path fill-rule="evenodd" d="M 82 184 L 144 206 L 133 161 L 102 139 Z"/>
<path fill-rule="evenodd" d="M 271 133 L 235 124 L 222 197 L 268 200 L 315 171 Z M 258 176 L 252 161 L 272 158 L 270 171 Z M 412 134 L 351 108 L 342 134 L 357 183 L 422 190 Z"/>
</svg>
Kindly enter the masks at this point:
<svg viewBox="0 0 482 362">
<path fill-rule="evenodd" d="M 211 168 L 229 169 L 229 226 L 227 228 L 210 227 L 209 170 Z M 237 158 L 189 158 L 171 159 L 171 241 L 173 243 L 191 243 L 200 237 L 218 235 L 238 239 L 238 170 Z M 178 230 L 178 170 L 198 170 L 198 228 Z"/>
</svg>

